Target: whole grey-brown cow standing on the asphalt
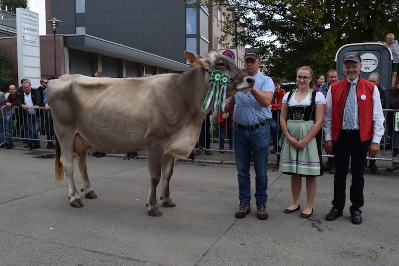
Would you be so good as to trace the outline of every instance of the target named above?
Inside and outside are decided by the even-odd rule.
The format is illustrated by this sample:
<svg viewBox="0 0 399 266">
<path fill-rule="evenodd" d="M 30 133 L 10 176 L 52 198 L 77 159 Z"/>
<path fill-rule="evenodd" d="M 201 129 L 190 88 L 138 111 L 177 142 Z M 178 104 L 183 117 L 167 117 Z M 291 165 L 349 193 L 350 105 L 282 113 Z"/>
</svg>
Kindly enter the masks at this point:
<svg viewBox="0 0 399 266">
<path fill-rule="evenodd" d="M 62 75 L 48 85 L 59 143 L 55 179 L 62 180 L 65 173 L 71 206 L 83 206 L 73 180 L 74 152 L 83 181 L 81 191 L 88 199 L 97 198 L 87 175 L 90 148 L 103 153 L 145 149 L 150 174 L 148 213 L 162 215 L 156 201 L 161 172 L 162 203 L 166 207 L 176 206 L 169 196 L 174 158 L 186 159 L 198 140 L 206 115 L 201 106 L 209 89 L 211 71 L 219 69 L 231 78 L 227 97 L 236 91 L 246 92 L 255 83 L 233 60 L 216 50 L 204 57 L 188 51 L 184 54 L 197 67 L 182 74 L 128 79 Z"/>
</svg>

